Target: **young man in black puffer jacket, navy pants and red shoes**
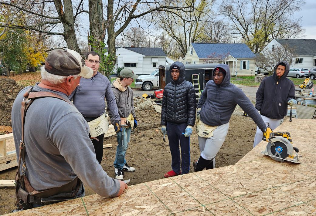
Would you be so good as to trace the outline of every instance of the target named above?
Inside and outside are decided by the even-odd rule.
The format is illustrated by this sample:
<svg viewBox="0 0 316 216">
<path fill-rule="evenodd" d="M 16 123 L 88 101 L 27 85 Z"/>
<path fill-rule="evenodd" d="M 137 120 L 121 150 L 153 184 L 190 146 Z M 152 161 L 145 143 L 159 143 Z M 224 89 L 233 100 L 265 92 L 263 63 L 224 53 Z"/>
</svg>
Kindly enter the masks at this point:
<svg viewBox="0 0 316 216">
<path fill-rule="evenodd" d="M 172 157 L 172 170 L 164 175 L 166 178 L 180 175 L 181 171 L 182 174 L 189 173 L 190 135 L 196 111 L 195 90 L 191 82 L 185 81 L 184 64 L 174 62 L 170 65 L 170 73 L 172 79 L 164 88 L 161 106 L 161 131 L 168 135 Z"/>
</svg>

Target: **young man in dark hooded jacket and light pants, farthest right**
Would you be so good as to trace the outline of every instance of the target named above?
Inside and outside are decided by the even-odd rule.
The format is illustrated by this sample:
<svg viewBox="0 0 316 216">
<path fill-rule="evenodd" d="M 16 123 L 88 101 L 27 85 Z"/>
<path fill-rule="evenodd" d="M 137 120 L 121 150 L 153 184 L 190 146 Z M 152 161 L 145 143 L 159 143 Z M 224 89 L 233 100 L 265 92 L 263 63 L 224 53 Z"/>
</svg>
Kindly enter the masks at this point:
<svg viewBox="0 0 316 216">
<path fill-rule="evenodd" d="M 274 130 L 288 112 L 288 105 L 297 104 L 295 85 L 286 78 L 289 74 L 289 63 L 277 63 L 274 74 L 264 78 L 256 93 L 256 109 L 260 111 L 264 123 Z M 253 147 L 262 140 L 262 131 L 257 127 Z"/>
</svg>

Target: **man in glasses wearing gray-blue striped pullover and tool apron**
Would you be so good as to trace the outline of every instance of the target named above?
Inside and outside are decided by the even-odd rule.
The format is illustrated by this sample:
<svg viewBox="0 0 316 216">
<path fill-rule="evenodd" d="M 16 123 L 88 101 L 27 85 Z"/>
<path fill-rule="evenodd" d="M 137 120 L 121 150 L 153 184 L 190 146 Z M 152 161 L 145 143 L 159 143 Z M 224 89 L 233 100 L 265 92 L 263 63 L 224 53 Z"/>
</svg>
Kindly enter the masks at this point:
<svg viewBox="0 0 316 216">
<path fill-rule="evenodd" d="M 108 129 L 108 122 L 105 113 L 105 99 L 107 107 L 112 113 L 114 129 L 119 128 L 119 112 L 115 102 L 114 94 L 111 90 L 109 79 L 98 72 L 100 67 L 100 56 L 96 52 L 88 52 L 86 55 L 86 65 L 93 70 L 93 75 L 89 79 L 82 78 L 79 86 L 70 95 L 76 108 L 89 124 L 90 137 L 96 159 L 101 164 L 103 156 L 103 138 Z"/>
</svg>

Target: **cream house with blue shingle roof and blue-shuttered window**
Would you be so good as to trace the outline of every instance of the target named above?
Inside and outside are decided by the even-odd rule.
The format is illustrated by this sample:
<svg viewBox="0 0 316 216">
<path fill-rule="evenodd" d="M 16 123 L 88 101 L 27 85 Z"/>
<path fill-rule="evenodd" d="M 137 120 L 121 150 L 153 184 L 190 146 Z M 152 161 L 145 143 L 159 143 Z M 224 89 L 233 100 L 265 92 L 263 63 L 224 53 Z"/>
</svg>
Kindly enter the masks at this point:
<svg viewBox="0 0 316 216">
<path fill-rule="evenodd" d="M 231 75 L 255 75 L 255 54 L 246 44 L 191 43 L 184 64 L 226 63 Z"/>
</svg>

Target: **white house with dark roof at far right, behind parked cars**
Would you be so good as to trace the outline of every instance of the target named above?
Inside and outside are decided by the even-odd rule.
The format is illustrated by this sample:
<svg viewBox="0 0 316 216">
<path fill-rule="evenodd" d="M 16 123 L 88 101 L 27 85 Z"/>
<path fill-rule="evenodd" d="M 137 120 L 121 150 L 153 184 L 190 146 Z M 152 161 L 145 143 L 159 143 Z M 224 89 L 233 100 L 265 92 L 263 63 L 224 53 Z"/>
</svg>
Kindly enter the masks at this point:
<svg viewBox="0 0 316 216">
<path fill-rule="evenodd" d="M 311 69 L 316 67 L 316 40 L 315 39 L 273 39 L 266 49 L 274 49 L 277 45 L 289 46 L 295 50 L 295 58 L 290 63 L 291 68 Z"/>
</svg>

